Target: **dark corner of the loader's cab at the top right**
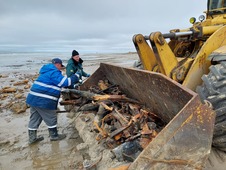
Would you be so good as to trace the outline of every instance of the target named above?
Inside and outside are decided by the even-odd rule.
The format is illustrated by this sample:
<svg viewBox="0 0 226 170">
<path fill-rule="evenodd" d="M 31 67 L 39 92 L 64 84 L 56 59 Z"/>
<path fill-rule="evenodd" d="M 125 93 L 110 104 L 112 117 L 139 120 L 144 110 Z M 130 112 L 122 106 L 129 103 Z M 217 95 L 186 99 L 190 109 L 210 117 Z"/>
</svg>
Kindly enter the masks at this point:
<svg viewBox="0 0 226 170">
<path fill-rule="evenodd" d="M 207 14 L 219 15 L 226 13 L 226 0 L 208 0 Z"/>
</svg>

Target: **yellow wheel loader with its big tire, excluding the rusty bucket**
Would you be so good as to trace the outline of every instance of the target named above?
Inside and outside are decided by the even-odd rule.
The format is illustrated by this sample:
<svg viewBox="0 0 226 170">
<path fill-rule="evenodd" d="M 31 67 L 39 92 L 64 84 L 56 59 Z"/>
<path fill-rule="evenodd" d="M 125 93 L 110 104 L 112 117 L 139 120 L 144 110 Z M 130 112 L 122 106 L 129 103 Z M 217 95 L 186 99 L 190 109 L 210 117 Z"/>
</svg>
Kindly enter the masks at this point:
<svg viewBox="0 0 226 170">
<path fill-rule="evenodd" d="M 216 113 L 212 146 L 225 152 L 226 0 L 208 0 L 205 14 L 190 18 L 188 29 L 134 35 L 135 67 L 161 73 L 210 102 Z"/>
</svg>

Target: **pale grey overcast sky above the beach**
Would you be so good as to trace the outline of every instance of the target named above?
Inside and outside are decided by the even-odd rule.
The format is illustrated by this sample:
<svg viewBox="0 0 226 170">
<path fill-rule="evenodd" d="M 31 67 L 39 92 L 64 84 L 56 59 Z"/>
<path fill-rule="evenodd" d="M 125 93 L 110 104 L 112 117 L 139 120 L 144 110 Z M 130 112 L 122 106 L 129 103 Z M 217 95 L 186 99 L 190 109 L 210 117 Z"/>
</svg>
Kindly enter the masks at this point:
<svg viewBox="0 0 226 170">
<path fill-rule="evenodd" d="M 0 52 L 135 51 L 134 34 L 190 27 L 205 0 L 0 0 Z"/>
</svg>

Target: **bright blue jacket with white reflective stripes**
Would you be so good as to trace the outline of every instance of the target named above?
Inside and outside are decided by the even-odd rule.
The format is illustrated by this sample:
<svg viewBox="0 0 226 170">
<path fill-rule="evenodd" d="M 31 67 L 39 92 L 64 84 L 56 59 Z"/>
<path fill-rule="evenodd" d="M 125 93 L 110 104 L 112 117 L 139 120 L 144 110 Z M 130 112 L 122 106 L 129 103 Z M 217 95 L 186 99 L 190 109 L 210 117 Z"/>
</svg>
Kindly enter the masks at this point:
<svg viewBox="0 0 226 170">
<path fill-rule="evenodd" d="M 32 85 L 27 96 L 27 104 L 44 109 L 56 110 L 62 87 L 78 81 L 76 76 L 63 76 L 54 64 L 44 65 L 39 77 Z"/>
</svg>

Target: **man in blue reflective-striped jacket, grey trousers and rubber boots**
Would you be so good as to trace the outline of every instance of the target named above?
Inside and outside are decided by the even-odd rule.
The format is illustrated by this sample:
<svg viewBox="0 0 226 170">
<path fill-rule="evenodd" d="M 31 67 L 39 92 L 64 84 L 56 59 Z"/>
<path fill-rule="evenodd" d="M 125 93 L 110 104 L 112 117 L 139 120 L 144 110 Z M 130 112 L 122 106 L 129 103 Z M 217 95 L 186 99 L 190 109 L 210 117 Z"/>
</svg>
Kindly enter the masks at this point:
<svg viewBox="0 0 226 170">
<path fill-rule="evenodd" d="M 72 74 L 70 77 L 63 76 L 62 60 L 54 58 L 51 64 L 44 65 L 39 72 L 39 77 L 34 81 L 26 102 L 30 105 L 30 121 L 28 124 L 29 144 L 43 140 L 42 136 L 37 137 L 37 129 L 42 120 L 49 129 L 50 140 L 61 140 L 65 134 L 58 134 L 57 131 L 57 104 L 62 87 L 69 87 L 79 81 L 79 74 Z"/>
</svg>

